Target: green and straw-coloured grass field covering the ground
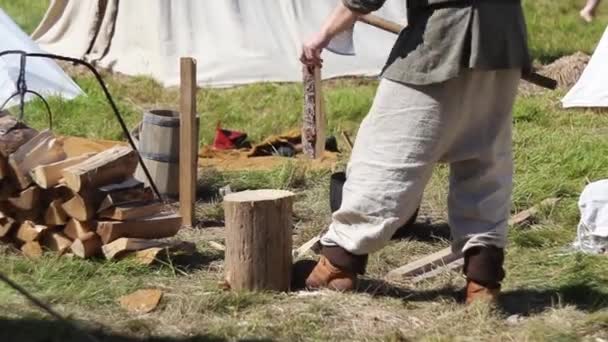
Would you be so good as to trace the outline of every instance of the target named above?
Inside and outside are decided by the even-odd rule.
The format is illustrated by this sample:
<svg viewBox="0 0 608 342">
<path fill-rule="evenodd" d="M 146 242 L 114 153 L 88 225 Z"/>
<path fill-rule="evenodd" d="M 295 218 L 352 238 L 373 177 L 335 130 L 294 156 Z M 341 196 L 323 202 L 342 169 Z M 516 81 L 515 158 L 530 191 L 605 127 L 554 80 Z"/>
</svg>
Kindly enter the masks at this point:
<svg viewBox="0 0 608 342">
<path fill-rule="evenodd" d="M 592 25 L 578 18 L 580 4 L 569 0 L 526 0 L 531 45 L 540 62 L 577 50 L 591 52 L 608 23 L 608 7 Z M 43 1 L 0 0 L 27 30 L 42 16 Z M 105 75 L 130 125 L 141 111 L 176 104 L 175 90 L 144 77 Z M 120 138 L 117 124 L 89 77 L 75 75 L 88 97 L 54 99 L 57 131 Z M 374 95 L 371 81 L 327 84 L 332 132 L 356 132 Z M 370 260 L 368 279 L 354 294 L 230 293 L 218 289 L 222 254 L 209 240 L 222 229 L 180 233 L 199 254 L 155 268 L 119 262 L 80 261 L 51 255 L 30 261 L 2 251 L 0 271 L 61 313 L 108 341 L 359 340 L 359 341 L 604 341 L 608 339 L 608 259 L 571 253 L 578 221 L 577 198 L 590 181 L 608 178 L 608 117 L 594 111 L 559 108 L 563 91 L 522 96 L 515 107 L 516 178 L 513 211 L 559 196 L 555 208 L 510 231 L 507 280 L 496 308 L 459 303 L 462 277 L 447 273 L 413 284 L 384 284 L 387 271 L 447 246 L 445 226 L 447 169 L 434 174 L 416 228 L 424 234 L 391 243 Z M 298 85 L 260 84 L 199 93 L 203 142 L 218 120 L 250 133 L 253 139 L 298 126 Z M 28 107 L 28 121 L 44 126 L 40 104 Z M 346 156 L 343 158 L 346 159 Z M 202 170 L 201 187 L 284 188 L 298 194 L 296 244 L 323 229 L 329 220 L 330 170 L 287 164 L 269 172 Z M 199 218 L 221 220 L 217 199 L 198 204 Z M 428 222 L 426 222 L 428 221 Z M 123 311 L 117 298 L 133 290 L 164 291 L 161 307 L 147 315 Z M 8 287 L 0 285 L 0 341 L 82 341 L 77 332 L 51 321 Z"/>
</svg>

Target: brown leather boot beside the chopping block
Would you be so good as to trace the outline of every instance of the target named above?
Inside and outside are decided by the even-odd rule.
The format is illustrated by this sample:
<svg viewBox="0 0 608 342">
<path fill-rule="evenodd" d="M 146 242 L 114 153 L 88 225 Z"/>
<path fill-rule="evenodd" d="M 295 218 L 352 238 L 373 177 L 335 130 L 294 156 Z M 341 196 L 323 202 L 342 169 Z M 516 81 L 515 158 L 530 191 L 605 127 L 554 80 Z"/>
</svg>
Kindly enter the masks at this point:
<svg viewBox="0 0 608 342">
<path fill-rule="evenodd" d="M 321 256 L 317 266 L 306 279 L 306 288 L 309 290 L 327 288 L 345 292 L 354 290 L 356 284 L 356 273 L 337 268 L 325 256 Z"/>
</svg>

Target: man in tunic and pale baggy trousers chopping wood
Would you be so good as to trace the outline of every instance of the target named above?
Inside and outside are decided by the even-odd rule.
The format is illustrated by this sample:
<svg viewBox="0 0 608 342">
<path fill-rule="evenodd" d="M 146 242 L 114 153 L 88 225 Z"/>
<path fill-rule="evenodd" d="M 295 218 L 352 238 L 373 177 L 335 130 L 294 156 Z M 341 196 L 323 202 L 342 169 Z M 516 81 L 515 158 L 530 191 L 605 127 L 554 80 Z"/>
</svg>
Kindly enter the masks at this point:
<svg viewBox="0 0 608 342">
<path fill-rule="evenodd" d="M 342 0 L 303 46 L 321 52 L 385 0 Z M 513 185 L 511 127 L 522 72 L 530 69 L 519 0 L 408 0 L 404 29 L 361 123 L 341 208 L 321 239 L 311 289 L 356 286 L 367 256 L 414 213 L 437 163 L 450 165 L 449 224 L 465 256 L 467 303 L 496 300 Z M 368 47 L 373 49 L 373 46 Z"/>
</svg>

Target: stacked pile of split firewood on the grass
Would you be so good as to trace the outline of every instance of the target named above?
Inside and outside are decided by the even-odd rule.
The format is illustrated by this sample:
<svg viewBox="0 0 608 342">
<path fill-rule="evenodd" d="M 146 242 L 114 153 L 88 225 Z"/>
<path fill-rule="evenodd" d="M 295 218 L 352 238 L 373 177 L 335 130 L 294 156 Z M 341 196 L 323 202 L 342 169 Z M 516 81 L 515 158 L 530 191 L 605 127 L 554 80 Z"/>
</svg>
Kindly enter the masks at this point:
<svg viewBox="0 0 608 342">
<path fill-rule="evenodd" d="M 133 178 L 137 165 L 130 147 L 68 156 L 50 131 L 0 117 L 0 241 L 28 257 L 137 252 L 150 263 L 183 247 L 154 240 L 174 236 L 181 218 Z"/>
</svg>

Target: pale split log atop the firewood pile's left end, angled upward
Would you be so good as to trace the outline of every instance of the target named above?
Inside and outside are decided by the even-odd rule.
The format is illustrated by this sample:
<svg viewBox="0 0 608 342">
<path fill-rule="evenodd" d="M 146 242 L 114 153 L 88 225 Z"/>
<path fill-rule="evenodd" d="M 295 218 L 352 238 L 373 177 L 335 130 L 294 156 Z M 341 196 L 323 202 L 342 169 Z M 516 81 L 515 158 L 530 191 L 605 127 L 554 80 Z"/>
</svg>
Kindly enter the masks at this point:
<svg viewBox="0 0 608 342">
<path fill-rule="evenodd" d="M 61 143 L 49 132 L 43 131 L 21 146 L 9 157 L 9 166 L 20 189 L 32 184 L 30 171 L 44 164 L 65 159 Z"/>
</svg>

